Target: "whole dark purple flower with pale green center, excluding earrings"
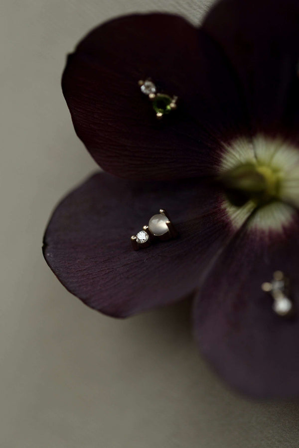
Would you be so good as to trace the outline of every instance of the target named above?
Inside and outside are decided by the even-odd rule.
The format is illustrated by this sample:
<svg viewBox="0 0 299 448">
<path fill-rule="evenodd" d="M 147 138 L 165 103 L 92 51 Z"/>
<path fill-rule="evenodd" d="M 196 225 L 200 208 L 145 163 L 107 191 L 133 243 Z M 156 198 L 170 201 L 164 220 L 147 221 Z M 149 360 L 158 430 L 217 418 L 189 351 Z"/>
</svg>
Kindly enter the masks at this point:
<svg viewBox="0 0 299 448">
<path fill-rule="evenodd" d="M 298 61 L 298 0 L 222 0 L 200 28 L 166 14 L 105 23 L 62 79 L 78 136 L 124 179 L 95 174 L 60 203 L 47 263 L 111 316 L 193 293 L 202 353 L 259 397 L 299 394 Z M 178 97 L 160 121 L 138 86 L 149 77 Z M 180 237 L 133 251 L 160 208 Z M 278 270 L 286 289 L 263 291 Z"/>
</svg>

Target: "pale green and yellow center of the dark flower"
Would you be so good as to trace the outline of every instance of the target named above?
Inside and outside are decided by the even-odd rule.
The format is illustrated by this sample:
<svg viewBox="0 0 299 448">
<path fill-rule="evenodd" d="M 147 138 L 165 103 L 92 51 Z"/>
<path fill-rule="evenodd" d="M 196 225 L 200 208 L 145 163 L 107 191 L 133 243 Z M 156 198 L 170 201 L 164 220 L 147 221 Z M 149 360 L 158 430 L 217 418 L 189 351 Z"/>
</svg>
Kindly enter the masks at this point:
<svg viewBox="0 0 299 448">
<path fill-rule="evenodd" d="M 264 135 L 238 138 L 225 145 L 219 180 L 233 224 L 245 213 L 250 228 L 282 231 L 299 208 L 299 147 Z"/>
</svg>

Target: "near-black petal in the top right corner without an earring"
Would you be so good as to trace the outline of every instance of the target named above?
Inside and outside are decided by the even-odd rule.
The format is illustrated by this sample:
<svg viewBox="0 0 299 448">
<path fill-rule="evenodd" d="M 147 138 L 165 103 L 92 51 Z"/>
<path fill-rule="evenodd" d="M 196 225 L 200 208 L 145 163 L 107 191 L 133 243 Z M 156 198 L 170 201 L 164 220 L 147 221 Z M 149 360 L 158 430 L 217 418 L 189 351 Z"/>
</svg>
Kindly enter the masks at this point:
<svg viewBox="0 0 299 448">
<path fill-rule="evenodd" d="M 238 74 L 253 130 L 292 134 L 298 140 L 298 0 L 222 0 L 203 29 Z"/>
</svg>

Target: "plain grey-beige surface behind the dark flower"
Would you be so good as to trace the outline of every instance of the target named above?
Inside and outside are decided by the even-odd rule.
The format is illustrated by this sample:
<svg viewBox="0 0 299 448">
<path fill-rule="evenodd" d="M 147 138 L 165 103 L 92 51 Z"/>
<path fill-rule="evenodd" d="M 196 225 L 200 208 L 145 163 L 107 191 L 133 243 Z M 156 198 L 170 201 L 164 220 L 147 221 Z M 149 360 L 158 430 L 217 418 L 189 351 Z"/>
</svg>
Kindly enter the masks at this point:
<svg viewBox="0 0 299 448">
<path fill-rule="evenodd" d="M 228 390 L 197 352 L 188 303 L 110 319 L 64 290 L 41 255 L 55 203 L 96 168 L 61 94 L 66 53 L 112 16 L 197 22 L 210 3 L 1 1 L 1 448 L 299 446 L 299 405 Z"/>
</svg>

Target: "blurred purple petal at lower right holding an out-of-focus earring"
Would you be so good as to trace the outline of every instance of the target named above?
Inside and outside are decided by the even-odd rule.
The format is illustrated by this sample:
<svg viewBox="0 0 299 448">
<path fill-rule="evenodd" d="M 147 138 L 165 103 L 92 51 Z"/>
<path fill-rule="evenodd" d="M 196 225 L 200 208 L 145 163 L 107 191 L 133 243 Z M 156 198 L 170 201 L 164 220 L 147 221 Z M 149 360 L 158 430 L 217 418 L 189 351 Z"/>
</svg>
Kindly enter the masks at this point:
<svg viewBox="0 0 299 448">
<path fill-rule="evenodd" d="M 256 397 L 299 394 L 299 216 L 292 213 L 280 230 L 251 227 L 236 235 L 195 304 L 202 352 L 229 384 Z M 276 270 L 290 279 L 291 318 L 277 315 L 261 288 Z"/>
</svg>

